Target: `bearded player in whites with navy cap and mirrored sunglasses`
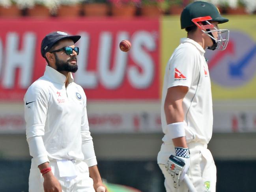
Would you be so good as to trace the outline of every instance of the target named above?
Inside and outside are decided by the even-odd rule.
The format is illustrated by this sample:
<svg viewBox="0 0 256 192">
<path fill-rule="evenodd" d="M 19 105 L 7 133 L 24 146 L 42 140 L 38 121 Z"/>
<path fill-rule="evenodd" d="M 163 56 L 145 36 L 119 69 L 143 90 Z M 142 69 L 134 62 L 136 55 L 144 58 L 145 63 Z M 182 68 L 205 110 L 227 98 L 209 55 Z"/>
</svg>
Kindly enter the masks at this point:
<svg viewBox="0 0 256 192">
<path fill-rule="evenodd" d="M 71 74 L 78 69 L 79 48 L 74 44 L 79 39 L 52 32 L 41 43 L 48 65 L 24 97 L 26 137 L 33 157 L 29 192 L 95 192 L 104 186 L 89 131 L 86 95 Z"/>
</svg>

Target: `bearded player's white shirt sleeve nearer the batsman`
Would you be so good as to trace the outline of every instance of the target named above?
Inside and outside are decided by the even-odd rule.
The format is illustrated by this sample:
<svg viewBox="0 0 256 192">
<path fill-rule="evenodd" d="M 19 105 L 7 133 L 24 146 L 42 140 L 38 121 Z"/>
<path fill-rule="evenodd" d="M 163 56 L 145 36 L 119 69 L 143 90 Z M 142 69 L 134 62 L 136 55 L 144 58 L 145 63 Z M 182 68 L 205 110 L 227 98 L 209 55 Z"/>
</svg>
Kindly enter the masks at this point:
<svg viewBox="0 0 256 192">
<path fill-rule="evenodd" d="M 82 90 L 82 93 L 84 93 L 83 90 Z M 83 107 L 82 124 L 81 124 L 81 136 L 82 136 L 82 153 L 84 154 L 84 161 L 86 162 L 88 167 L 97 165 L 92 136 L 89 130 L 85 93 L 84 93 L 84 107 Z"/>
</svg>

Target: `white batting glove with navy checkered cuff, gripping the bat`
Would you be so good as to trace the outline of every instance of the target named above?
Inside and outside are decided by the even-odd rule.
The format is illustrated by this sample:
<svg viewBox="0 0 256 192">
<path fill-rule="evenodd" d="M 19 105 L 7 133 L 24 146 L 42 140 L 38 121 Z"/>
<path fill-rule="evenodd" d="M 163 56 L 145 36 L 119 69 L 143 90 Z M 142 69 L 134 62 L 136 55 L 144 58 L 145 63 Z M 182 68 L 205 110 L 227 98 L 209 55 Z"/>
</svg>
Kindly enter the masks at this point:
<svg viewBox="0 0 256 192">
<path fill-rule="evenodd" d="M 185 174 L 189 170 L 190 158 L 189 149 L 175 147 L 176 155 L 171 155 L 165 164 L 165 168 L 172 175 L 174 187 L 177 188 L 181 181 L 183 181 Z"/>
</svg>

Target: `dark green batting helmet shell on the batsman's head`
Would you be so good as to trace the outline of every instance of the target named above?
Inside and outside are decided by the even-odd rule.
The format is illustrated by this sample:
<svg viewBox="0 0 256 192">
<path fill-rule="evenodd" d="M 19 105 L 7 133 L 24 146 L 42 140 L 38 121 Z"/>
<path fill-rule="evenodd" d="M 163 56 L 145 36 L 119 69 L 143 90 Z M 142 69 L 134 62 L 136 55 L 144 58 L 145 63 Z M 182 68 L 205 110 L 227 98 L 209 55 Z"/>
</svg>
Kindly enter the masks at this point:
<svg viewBox="0 0 256 192">
<path fill-rule="evenodd" d="M 193 25 L 192 19 L 206 16 L 210 16 L 212 18 L 211 21 L 217 21 L 219 23 L 228 22 L 228 19 L 220 15 L 220 11 L 215 5 L 208 2 L 196 1 L 183 9 L 180 17 L 181 29 Z"/>
</svg>

